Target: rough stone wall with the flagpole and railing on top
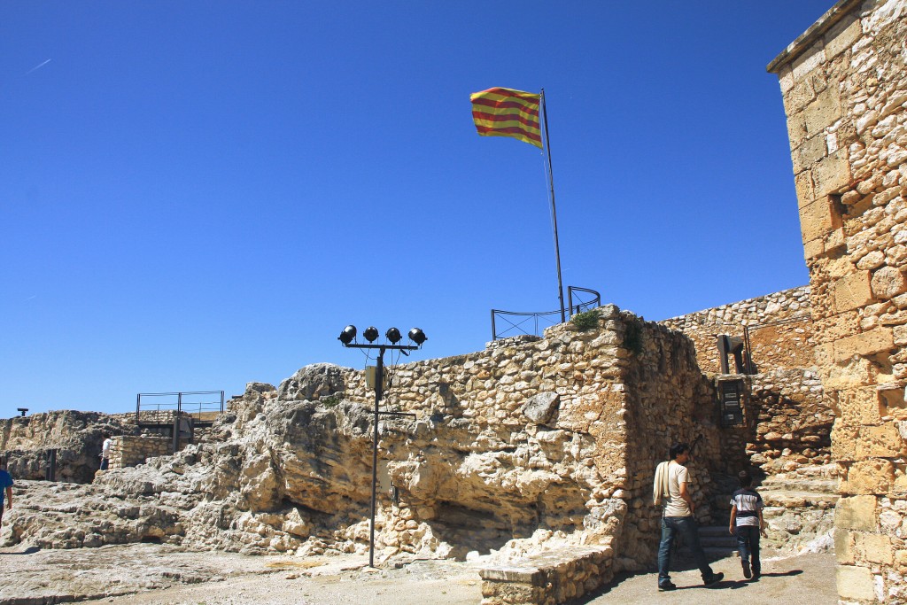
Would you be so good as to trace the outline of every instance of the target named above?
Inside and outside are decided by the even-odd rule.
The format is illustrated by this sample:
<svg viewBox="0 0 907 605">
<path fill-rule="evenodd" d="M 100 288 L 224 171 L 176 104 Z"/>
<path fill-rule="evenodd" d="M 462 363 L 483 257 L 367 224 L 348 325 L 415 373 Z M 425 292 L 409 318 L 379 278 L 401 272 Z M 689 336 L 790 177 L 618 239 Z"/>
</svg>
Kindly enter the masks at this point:
<svg viewBox="0 0 907 605">
<path fill-rule="evenodd" d="M 617 540 L 619 567 L 639 569 L 657 548 L 653 469 L 666 459 L 669 444 L 697 435 L 704 437 L 701 459 L 721 460 L 716 408 L 687 338 L 613 306 L 601 314 L 600 329 L 589 333 L 568 324 L 538 342 L 499 341 L 462 363 L 405 366 L 396 387 L 402 409 L 418 409 L 413 404 L 421 399 L 433 414 L 453 412 L 483 431 L 502 426 L 525 434 L 508 465 L 529 463 L 536 484 L 516 498 L 511 519 L 525 517 L 532 531 L 610 536 Z M 434 399 L 437 385 L 447 385 L 446 392 Z M 551 417 L 530 417 L 527 402 L 546 395 L 554 402 Z M 406 484 L 409 464 L 391 464 L 392 482 L 399 473 L 397 483 Z M 712 470 L 698 468 L 694 483 L 707 483 Z M 696 487 L 707 519 L 707 485 Z M 413 500 L 418 509 L 422 503 Z M 485 510 L 501 507 L 497 494 Z M 506 499 L 503 507 L 509 508 Z"/>
</svg>

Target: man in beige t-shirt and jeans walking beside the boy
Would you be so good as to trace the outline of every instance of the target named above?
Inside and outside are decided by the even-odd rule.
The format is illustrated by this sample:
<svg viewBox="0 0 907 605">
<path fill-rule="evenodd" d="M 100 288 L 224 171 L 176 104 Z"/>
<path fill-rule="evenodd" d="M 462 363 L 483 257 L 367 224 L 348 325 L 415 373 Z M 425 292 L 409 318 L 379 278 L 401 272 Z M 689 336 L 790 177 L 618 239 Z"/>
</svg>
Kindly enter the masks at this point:
<svg viewBox="0 0 907 605">
<path fill-rule="evenodd" d="M 683 536 L 683 541 L 693 553 L 702 581 L 706 586 L 713 586 L 725 577 L 723 573 L 715 573 L 708 566 L 706 553 L 699 545 L 699 526 L 693 513 L 696 504 L 689 495 L 689 471 L 686 464 L 690 459 L 688 444 L 673 444 L 670 448 L 671 461 L 665 472 L 668 475 L 668 493 L 664 494 L 665 511 L 661 517 L 661 543 L 658 545 L 658 590 L 674 590 L 677 588 L 672 582 L 670 574 L 671 547 L 678 532 Z M 658 479 L 657 479 L 658 480 Z M 658 486 L 656 486 L 658 491 Z"/>
</svg>

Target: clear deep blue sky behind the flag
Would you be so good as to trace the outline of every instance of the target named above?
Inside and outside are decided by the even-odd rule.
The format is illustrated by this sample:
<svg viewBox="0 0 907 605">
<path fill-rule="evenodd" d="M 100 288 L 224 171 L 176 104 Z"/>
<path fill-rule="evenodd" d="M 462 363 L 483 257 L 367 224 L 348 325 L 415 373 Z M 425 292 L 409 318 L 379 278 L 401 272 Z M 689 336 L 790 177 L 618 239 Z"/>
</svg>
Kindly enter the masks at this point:
<svg viewBox="0 0 907 605">
<path fill-rule="evenodd" d="M 807 283 L 766 64 L 831 0 L 5 2 L 0 417 L 481 350 L 564 286 L 663 319 Z"/>
</svg>

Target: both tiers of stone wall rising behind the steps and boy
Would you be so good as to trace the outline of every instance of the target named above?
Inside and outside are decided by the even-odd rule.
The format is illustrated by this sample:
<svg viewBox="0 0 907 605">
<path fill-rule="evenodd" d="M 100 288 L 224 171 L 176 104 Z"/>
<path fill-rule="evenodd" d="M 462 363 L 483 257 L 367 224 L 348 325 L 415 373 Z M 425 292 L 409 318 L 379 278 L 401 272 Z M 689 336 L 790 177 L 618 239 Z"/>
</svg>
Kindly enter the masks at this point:
<svg viewBox="0 0 907 605">
<path fill-rule="evenodd" d="M 745 424 L 720 432 L 724 473 L 752 466 L 770 476 L 797 464 L 828 464 L 834 414 L 815 366 L 810 310 L 804 286 L 660 322 L 693 340 L 699 367 L 713 377 L 720 370 L 716 336 L 743 337 L 749 330 L 756 374 L 739 376 L 746 384 Z M 733 358 L 728 364 L 733 371 Z M 738 457 L 741 452 L 749 458 Z"/>
</svg>

